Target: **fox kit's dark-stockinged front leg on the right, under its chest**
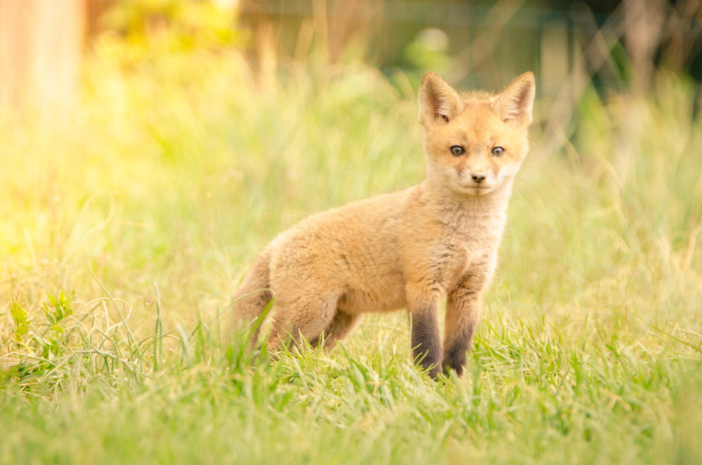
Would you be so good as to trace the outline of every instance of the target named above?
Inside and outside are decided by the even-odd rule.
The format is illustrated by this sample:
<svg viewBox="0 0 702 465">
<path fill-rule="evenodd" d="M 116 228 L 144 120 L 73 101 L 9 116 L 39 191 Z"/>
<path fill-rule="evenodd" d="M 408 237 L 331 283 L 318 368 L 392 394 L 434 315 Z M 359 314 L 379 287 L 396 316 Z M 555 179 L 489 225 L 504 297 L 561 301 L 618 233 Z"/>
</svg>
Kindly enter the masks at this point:
<svg viewBox="0 0 702 465">
<path fill-rule="evenodd" d="M 463 374 L 465 355 L 480 320 L 482 292 L 471 287 L 458 286 L 446 299 L 444 334 L 444 372 L 456 370 Z"/>
</svg>

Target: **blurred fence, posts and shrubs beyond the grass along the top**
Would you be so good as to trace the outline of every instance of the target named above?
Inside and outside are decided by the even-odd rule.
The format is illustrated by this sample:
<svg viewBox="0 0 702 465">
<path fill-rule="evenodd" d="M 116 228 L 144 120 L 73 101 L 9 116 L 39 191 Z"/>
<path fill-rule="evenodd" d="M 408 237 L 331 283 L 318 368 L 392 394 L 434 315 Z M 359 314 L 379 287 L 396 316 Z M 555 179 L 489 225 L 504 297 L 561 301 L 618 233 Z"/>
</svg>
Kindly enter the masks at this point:
<svg viewBox="0 0 702 465">
<path fill-rule="evenodd" d="M 699 81 L 701 18 L 696 0 L 3 0 L 0 104 L 79 99 L 84 55 L 107 37 L 136 49 L 131 60 L 233 48 L 257 69 L 270 53 L 362 60 L 488 89 L 533 70 L 551 103 L 586 81 L 647 90 L 660 68 Z"/>
</svg>

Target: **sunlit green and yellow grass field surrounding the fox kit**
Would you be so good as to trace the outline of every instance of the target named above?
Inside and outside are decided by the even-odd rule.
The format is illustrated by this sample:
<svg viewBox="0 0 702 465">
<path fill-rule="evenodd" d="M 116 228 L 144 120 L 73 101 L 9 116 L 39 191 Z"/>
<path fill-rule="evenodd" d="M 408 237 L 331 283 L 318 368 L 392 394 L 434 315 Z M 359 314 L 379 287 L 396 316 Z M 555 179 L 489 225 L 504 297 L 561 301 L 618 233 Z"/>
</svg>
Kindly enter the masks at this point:
<svg viewBox="0 0 702 465">
<path fill-rule="evenodd" d="M 534 124 L 462 379 L 418 372 L 404 313 L 271 364 L 225 336 L 277 232 L 422 178 L 417 85 L 106 40 L 76 111 L 3 119 L 0 462 L 702 463 L 702 119 L 679 77 L 588 92 L 555 152 Z"/>
</svg>

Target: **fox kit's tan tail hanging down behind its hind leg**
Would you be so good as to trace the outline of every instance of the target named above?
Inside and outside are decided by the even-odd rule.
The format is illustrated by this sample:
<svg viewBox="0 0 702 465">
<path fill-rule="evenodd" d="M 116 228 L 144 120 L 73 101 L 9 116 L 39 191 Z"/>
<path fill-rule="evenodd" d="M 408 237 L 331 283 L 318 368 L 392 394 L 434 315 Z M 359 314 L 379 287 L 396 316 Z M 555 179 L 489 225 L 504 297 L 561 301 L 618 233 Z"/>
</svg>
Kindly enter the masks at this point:
<svg viewBox="0 0 702 465">
<path fill-rule="evenodd" d="M 264 249 L 256 258 L 249 274 L 244 278 L 241 287 L 234 294 L 234 325 L 237 331 L 250 327 L 251 346 L 255 346 L 258 339 L 258 329 L 260 322 L 256 321 L 263 314 L 273 298 L 273 292 L 269 289 L 270 273 L 270 251 Z"/>
</svg>

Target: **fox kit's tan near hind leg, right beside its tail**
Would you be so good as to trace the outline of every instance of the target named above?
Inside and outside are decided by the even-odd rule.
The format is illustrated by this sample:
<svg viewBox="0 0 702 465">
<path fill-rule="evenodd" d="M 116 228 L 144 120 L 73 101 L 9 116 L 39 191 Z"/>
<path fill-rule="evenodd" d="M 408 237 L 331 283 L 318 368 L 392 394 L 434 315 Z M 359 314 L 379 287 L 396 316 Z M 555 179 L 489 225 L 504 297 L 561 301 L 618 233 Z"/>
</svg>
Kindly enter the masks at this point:
<svg viewBox="0 0 702 465">
<path fill-rule="evenodd" d="M 332 325 L 338 299 L 336 293 L 297 296 L 287 301 L 284 296 L 279 296 L 268 347 L 277 350 L 284 343 L 294 345 L 300 339 L 313 341 L 319 337 Z"/>
</svg>

